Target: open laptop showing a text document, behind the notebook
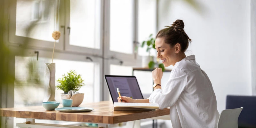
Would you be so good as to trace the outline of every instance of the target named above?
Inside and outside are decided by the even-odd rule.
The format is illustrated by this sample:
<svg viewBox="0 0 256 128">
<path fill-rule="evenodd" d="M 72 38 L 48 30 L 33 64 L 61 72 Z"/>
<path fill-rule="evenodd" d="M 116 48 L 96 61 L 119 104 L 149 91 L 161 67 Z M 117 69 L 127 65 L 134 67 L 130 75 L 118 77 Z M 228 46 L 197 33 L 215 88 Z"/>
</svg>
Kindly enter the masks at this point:
<svg viewBox="0 0 256 128">
<path fill-rule="evenodd" d="M 117 102 L 117 97 L 119 97 L 116 88 L 119 88 L 121 96 L 144 99 L 135 76 L 104 75 L 104 77 L 113 102 Z"/>
</svg>

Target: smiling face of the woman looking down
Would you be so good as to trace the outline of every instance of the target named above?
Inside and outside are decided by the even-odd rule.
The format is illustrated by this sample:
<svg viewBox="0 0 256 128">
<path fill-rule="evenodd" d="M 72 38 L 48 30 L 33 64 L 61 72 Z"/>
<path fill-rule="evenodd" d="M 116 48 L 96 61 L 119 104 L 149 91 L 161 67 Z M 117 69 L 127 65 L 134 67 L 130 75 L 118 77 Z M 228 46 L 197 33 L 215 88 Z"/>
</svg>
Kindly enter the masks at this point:
<svg viewBox="0 0 256 128">
<path fill-rule="evenodd" d="M 170 44 L 164 43 L 164 38 L 156 38 L 156 50 L 157 58 L 159 58 L 164 67 L 174 66 L 177 62 L 177 54 L 175 53 L 175 47 L 171 47 Z"/>
</svg>

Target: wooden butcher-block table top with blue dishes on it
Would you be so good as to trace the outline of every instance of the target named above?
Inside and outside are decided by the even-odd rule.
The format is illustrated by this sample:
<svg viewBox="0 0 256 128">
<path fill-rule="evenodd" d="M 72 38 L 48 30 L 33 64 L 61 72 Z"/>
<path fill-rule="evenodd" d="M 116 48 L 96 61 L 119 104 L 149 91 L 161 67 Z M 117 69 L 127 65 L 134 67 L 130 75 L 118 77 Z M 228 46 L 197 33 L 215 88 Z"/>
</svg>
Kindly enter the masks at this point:
<svg viewBox="0 0 256 128">
<path fill-rule="evenodd" d="M 60 106 L 58 108 L 62 107 Z M 113 111 L 112 101 L 85 103 L 79 107 L 94 108 L 91 112 L 59 112 L 49 111 L 43 106 L 0 108 L 0 116 L 60 120 L 72 122 L 91 122 L 102 124 L 116 124 L 121 122 L 146 119 L 169 115 L 168 108 L 156 111 Z"/>
</svg>

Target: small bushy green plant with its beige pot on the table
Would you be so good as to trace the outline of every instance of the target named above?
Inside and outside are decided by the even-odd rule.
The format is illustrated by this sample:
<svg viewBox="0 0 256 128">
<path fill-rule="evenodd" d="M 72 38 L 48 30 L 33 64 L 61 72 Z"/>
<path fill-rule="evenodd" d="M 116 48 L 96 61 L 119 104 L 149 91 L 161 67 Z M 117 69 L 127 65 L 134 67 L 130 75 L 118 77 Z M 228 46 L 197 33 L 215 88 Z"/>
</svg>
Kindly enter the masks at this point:
<svg viewBox="0 0 256 128">
<path fill-rule="evenodd" d="M 62 100 L 72 99 L 72 106 L 78 106 L 83 102 L 84 93 L 78 93 L 77 91 L 84 86 L 84 80 L 80 74 L 76 74 L 75 70 L 69 71 L 67 75 L 62 75 L 57 82 L 59 85 L 57 85 L 56 88 L 64 91 L 64 93 L 61 94 Z"/>
</svg>

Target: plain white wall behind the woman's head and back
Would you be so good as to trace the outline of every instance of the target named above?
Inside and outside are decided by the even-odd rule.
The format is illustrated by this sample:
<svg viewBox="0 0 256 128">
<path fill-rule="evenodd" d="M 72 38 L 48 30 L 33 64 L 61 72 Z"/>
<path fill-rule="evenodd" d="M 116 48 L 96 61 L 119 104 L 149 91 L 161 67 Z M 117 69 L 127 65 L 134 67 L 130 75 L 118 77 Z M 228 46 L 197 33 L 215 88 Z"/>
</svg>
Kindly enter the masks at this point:
<svg viewBox="0 0 256 128">
<path fill-rule="evenodd" d="M 250 0 L 199 0 L 206 10 L 197 12 L 183 1 L 159 0 L 158 28 L 181 19 L 193 40 L 187 55 L 209 76 L 219 112 L 226 96 L 252 95 Z M 167 77 L 167 76 L 166 76 Z"/>
</svg>

